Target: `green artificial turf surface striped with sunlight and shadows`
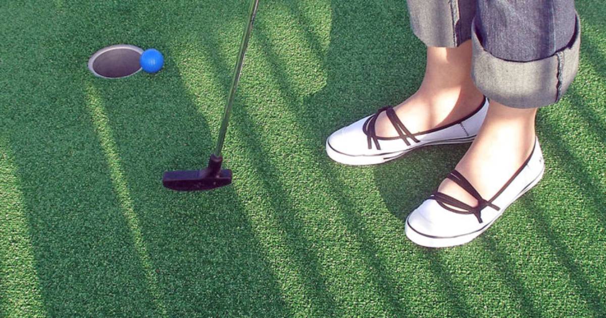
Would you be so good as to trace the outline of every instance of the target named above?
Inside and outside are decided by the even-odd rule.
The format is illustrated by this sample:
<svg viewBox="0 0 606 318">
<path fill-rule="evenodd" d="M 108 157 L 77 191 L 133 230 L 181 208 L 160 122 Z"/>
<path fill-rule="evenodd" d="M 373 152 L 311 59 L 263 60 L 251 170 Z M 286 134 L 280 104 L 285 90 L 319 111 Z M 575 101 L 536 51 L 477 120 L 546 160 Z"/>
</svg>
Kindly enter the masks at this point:
<svg viewBox="0 0 606 318">
<path fill-rule="evenodd" d="M 466 145 L 376 167 L 333 130 L 413 93 L 403 1 L 262 0 L 225 148 L 233 186 L 162 188 L 205 166 L 248 1 L 2 1 L 0 316 L 606 316 L 606 8 L 578 0 L 582 56 L 539 112 L 544 180 L 458 248 L 404 219 Z M 101 47 L 164 70 L 95 78 Z"/>
</svg>

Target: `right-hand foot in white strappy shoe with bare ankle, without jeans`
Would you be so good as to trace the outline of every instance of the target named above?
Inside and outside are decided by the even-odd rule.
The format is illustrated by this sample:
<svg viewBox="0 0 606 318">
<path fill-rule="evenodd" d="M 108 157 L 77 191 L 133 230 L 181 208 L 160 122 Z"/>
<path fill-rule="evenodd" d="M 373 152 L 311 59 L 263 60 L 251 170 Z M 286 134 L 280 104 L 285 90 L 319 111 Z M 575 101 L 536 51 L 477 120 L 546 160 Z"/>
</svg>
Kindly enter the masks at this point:
<svg viewBox="0 0 606 318">
<path fill-rule="evenodd" d="M 438 190 L 408 216 L 407 236 L 430 247 L 470 242 L 538 183 L 544 163 L 534 137 L 535 114 L 536 109 L 491 102 L 465 156 Z"/>
</svg>

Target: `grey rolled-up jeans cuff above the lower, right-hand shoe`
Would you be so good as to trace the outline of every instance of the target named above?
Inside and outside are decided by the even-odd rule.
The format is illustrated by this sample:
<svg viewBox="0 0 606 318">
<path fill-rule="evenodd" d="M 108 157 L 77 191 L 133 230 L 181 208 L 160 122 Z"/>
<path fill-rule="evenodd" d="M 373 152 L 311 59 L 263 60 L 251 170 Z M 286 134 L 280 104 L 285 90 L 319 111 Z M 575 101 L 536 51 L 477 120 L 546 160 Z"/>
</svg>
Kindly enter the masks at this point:
<svg viewBox="0 0 606 318">
<path fill-rule="evenodd" d="M 482 47 L 475 23 L 471 41 L 474 83 L 490 100 L 510 107 L 534 108 L 557 103 L 579 68 L 581 24 L 578 15 L 568 47 L 536 61 L 507 61 L 491 55 Z"/>
</svg>

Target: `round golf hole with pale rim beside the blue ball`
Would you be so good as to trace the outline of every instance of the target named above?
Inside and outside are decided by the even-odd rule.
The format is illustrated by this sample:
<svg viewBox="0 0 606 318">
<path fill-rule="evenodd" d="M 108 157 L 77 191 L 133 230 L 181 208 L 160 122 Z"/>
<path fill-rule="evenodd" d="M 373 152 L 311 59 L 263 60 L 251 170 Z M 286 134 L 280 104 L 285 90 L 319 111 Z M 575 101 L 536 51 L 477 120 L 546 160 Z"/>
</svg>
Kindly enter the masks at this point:
<svg viewBox="0 0 606 318">
<path fill-rule="evenodd" d="M 117 44 L 98 50 L 88 59 L 88 69 L 102 78 L 123 78 L 141 70 L 143 50 L 128 44 Z"/>
</svg>

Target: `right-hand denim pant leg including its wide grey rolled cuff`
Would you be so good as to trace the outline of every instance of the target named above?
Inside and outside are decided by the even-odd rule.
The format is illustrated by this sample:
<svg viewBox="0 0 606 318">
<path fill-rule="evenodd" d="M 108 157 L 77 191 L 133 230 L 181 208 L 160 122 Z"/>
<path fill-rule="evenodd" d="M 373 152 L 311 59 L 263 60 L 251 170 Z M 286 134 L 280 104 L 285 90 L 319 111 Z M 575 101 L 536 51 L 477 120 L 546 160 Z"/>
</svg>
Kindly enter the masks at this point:
<svg viewBox="0 0 606 318">
<path fill-rule="evenodd" d="M 557 103 L 579 67 L 573 0 L 478 0 L 471 39 L 474 83 L 507 106 Z"/>
</svg>

